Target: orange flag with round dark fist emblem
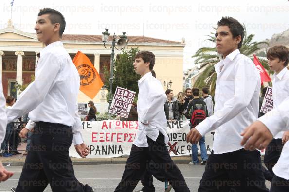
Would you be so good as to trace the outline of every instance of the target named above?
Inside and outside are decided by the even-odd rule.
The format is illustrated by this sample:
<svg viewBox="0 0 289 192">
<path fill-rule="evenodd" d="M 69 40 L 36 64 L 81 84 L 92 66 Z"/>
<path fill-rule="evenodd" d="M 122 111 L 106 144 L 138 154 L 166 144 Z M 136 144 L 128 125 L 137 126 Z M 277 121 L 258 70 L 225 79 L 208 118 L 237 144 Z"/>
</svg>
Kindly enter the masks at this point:
<svg viewBox="0 0 289 192">
<path fill-rule="evenodd" d="M 104 85 L 90 59 L 78 51 L 72 61 L 80 76 L 80 91 L 93 99 Z"/>
</svg>

